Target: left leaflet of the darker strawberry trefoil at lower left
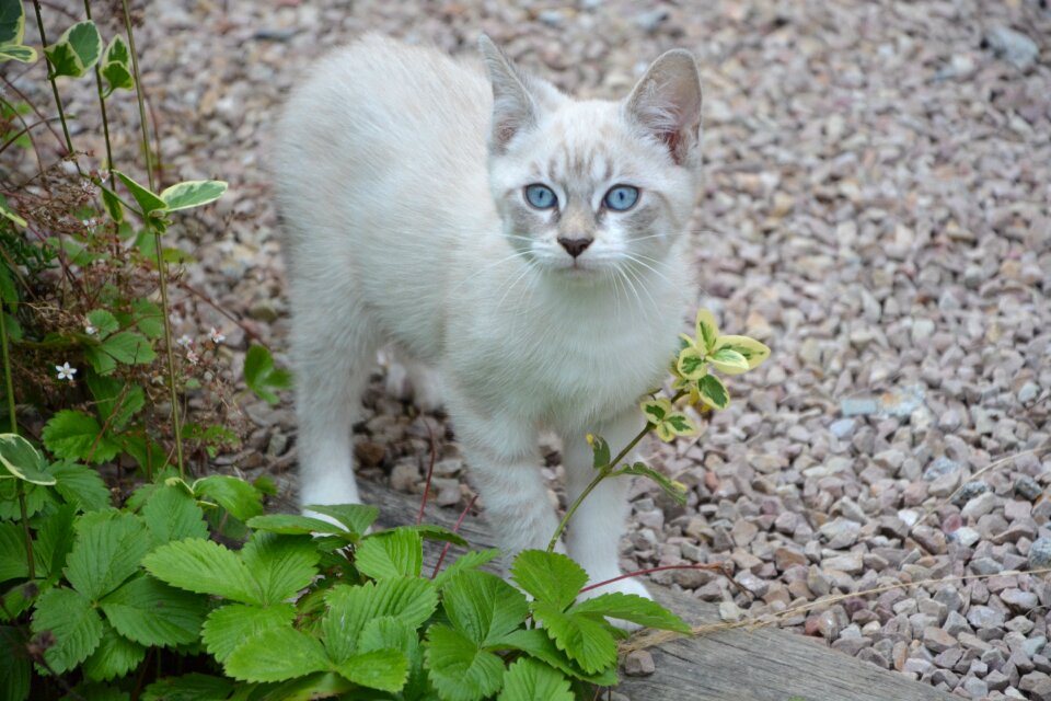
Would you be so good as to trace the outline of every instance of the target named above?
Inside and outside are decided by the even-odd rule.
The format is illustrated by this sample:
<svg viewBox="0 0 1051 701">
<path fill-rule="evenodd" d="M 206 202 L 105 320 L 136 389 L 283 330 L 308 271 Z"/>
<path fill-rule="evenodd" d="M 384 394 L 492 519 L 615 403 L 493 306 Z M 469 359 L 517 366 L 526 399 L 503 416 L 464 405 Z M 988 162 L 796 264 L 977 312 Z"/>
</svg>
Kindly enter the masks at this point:
<svg viewBox="0 0 1051 701">
<path fill-rule="evenodd" d="M 102 617 L 79 591 L 56 587 L 36 600 L 32 630 L 36 634 L 51 632 L 55 644 L 44 652 L 44 659 L 61 674 L 82 663 L 99 646 Z"/>
</svg>

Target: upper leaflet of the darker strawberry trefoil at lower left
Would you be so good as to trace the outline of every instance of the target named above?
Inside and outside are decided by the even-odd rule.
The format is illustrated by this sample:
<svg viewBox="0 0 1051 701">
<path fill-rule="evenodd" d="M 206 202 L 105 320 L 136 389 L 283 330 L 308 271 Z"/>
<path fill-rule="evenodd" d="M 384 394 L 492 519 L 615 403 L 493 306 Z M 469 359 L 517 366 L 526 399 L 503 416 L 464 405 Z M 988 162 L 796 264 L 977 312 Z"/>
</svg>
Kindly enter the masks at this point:
<svg viewBox="0 0 1051 701">
<path fill-rule="evenodd" d="M 150 547 L 137 516 L 115 509 L 85 514 L 77 524 L 66 577 L 77 591 L 96 601 L 138 571 Z"/>
</svg>

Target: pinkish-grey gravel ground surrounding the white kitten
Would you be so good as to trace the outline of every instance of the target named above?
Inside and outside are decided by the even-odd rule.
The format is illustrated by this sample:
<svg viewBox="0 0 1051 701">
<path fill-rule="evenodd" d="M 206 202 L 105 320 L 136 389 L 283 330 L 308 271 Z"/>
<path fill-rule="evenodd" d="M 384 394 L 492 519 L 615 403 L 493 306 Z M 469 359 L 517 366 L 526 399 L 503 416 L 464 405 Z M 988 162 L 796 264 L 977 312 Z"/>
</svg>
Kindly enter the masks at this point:
<svg viewBox="0 0 1051 701">
<path fill-rule="evenodd" d="M 784 628 L 962 698 L 1051 699 L 1051 584 L 1028 572 L 1051 567 L 1051 455 L 1040 451 L 1051 438 L 1051 13 L 1041 3 L 187 7 L 151 4 L 136 38 L 165 184 L 231 183 L 172 237 L 200 262 L 186 281 L 240 320 L 186 297 L 177 333 L 217 326 L 235 370 L 252 338 L 285 359 L 269 129 L 323 51 L 374 30 L 470 54 L 485 31 L 559 87 L 613 96 L 660 51 L 693 49 L 705 90 L 697 301 L 773 355 L 731 378 L 734 403 L 700 440 L 644 444 L 689 498 L 681 508 L 637 482 L 622 564 L 730 561 L 747 593 L 711 573 L 652 578 L 731 618 L 793 609 Z M 83 115 L 78 148 L 104 153 L 90 81 L 62 88 L 67 112 Z M 107 107 L 112 122 L 137 124 L 125 95 Z M 117 162 L 137 162 L 136 139 L 118 133 Z M 418 495 L 434 443 L 432 496 L 459 513 L 472 492 L 443 417 L 388 397 L 382 370 L 373 380 L 355 427 L 361 479 Z M 290 407 L 290 398 L 249 402 L 251 446 L 217 460 L 275 475 L 287 508 Z M 561 496 L 558 449 L 542 445 Z M 983 578 L 945 581 L 973 575 Z M 640 674 L 652 665 L 636 663 Z"/>
</svg>

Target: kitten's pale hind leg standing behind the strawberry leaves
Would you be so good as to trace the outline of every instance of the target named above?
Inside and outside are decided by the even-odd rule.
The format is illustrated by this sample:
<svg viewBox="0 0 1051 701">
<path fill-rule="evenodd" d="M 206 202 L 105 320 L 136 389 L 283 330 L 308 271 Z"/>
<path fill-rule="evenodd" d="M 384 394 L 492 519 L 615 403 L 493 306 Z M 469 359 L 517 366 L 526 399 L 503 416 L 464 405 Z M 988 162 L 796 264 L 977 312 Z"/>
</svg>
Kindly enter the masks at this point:
<svg viewBox="0 0 1051 701">
<path fill-rule="evenodd" d="M 374 367 L 378 334 L 361 309 L 340 313 L 324 298 L 297 307 L 291 337 L 300 504 L 358 504 L 350 430 Z"/>
</svg>

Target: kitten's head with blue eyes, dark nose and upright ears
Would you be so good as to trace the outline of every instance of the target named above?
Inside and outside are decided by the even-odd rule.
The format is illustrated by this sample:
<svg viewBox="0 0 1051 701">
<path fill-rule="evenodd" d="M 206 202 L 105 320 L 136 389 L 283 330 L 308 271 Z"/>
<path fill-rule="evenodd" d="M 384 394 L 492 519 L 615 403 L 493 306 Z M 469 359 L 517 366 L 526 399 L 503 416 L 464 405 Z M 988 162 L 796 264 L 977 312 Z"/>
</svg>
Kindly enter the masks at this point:
<svg viewBox="0 0 1051 701">
<path fill-rule="evenodd" d="M 660 272 L 696 197 L 693 56 L 663 54 L 620 102 L 577 101 L 520 72 L 488 37 L 480 47 L 493 83 L 489 183 L 511 245 L 571 278 Z"/>
</svg>

